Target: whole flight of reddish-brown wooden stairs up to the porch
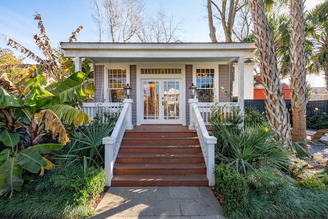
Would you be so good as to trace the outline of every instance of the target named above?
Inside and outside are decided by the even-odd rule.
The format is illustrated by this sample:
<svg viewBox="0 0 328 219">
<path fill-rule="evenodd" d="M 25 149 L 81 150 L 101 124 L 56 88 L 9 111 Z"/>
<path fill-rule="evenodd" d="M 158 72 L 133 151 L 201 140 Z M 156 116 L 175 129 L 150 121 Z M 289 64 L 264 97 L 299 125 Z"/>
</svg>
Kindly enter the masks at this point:
<svg viewBox="0 0 328 219">
<path fill-rule="evenodd" d="M 112 186 L 208 186 L 195 131 L 186 126 L 127 130 L 114 165 Z"/>
</svg>

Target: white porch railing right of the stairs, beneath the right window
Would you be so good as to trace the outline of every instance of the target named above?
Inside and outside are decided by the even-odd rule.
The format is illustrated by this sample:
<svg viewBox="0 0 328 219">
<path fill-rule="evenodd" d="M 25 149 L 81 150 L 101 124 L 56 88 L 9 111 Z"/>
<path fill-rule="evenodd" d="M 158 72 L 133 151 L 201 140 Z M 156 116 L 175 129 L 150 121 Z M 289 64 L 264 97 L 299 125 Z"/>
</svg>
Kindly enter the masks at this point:
<svg viewBox="0 0 328 219">
<path fill-rule="evenodd" d="M 197 106 L 205 125 L 210 125 L 211 107 L 214 106 L 214 103 L 197 103 Z M 231 116 L 236 111 L 238 114 L 240 113 L 239 103 L 218 103 L 218 108 L 223 118 Z"/>
</svg>

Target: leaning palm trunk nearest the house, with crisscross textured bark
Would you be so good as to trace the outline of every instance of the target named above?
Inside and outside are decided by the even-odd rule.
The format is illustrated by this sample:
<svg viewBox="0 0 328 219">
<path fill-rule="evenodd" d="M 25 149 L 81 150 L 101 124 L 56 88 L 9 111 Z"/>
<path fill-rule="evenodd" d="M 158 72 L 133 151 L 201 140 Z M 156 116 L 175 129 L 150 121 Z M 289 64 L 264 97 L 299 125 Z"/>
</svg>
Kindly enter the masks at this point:
<svg viewBox="0 0 328 219">
<path fill-rule="evenodd" d="M 289 113 L 282 93 L 277 57 L 268 28 L 264 2 L 263 0 L 249 0 L 248 4 L 252 13 L 253 33 L 256 36 L 256 46 L 259 52 L 259 67 L 265 89 L 265 111 L 269 125 L 277 133 L 275 139 L 283 140 L 285 147 L 293 151 Z"/>
</svg>

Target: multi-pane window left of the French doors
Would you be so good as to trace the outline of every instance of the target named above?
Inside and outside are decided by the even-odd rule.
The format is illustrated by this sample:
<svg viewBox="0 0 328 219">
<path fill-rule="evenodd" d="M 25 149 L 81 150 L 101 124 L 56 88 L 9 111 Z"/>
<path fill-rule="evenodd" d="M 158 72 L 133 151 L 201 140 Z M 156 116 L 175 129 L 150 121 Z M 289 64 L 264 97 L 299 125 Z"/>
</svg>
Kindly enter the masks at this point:
<svg viewBox="0 0 328 219">
<path fill-rule="evenodd" d="M 127 69 L 108 70 L 109 102 L 121 102 L 124 99 L 126 82 Z"/>
</svg>

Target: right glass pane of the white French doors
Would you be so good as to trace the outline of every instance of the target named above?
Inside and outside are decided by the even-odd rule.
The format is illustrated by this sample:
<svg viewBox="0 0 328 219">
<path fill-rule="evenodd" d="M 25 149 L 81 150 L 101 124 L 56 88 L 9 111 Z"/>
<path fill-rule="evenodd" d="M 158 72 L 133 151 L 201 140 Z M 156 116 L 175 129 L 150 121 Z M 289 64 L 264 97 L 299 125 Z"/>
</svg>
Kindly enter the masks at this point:
<svg viewBox="0 0 328 219">
<path fill-rule="evenodd" d="M 178 120 L 179 109 L 179 82 L 163 82 L 164 120 Z"/>
</svg>

